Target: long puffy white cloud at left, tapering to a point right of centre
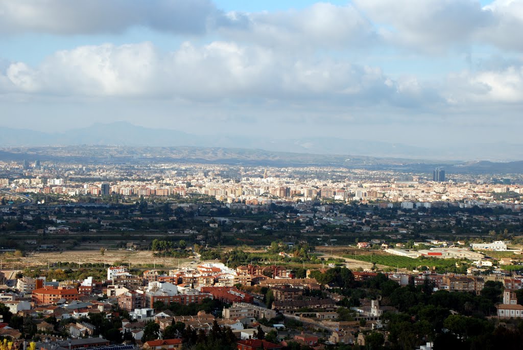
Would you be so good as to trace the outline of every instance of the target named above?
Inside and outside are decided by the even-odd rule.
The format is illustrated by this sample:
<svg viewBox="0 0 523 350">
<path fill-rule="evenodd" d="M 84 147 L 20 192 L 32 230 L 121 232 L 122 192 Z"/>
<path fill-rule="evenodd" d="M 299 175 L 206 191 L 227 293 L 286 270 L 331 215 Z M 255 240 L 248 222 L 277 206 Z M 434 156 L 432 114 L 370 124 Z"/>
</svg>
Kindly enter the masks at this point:
<svg viewBox="0 0 523 350">
<path fill-rule="evenodd" d="M 185 42 L 169 53 L 150 42 L 82 46 L 56 52 L 36 67 L 10 64 L 6 76 L 11 90 L 31 94 L 320 100 L 342 105 L 394 104 L 414 96 L 404 83 L 397 84 L 376 67 L 295 58 L 223 41 L 201 47 Z"/>
</svg>

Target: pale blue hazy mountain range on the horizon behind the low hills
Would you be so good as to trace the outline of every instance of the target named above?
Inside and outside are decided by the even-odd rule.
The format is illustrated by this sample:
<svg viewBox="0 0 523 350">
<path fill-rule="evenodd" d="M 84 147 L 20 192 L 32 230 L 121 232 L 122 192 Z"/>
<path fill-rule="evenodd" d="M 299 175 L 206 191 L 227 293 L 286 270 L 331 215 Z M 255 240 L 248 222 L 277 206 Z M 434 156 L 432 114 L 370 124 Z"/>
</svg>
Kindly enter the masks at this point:
<svg viewBox="0 0 523 350">
<path fill-rule="evenodd" d="M 340 138 L 273 139 L 264 135 L 201 136 L 182 131 L 144 128 L 128 122 L 92 126 L 48 133 L 26 129 L 1 128 L 3 147 L 35 147 L 59 145 L 121 145 L 121 146 L 192 146 L 207 148 L 241 148 L 293 153 L 347 155 L 437 160 L 521 160 L 523 146 L 518 144 L 469 144 L 447 147 L 417 147 L 404 143 L 387 143 Z M 481 154 L 481 156 L 477 156 Z"/>
</svg>

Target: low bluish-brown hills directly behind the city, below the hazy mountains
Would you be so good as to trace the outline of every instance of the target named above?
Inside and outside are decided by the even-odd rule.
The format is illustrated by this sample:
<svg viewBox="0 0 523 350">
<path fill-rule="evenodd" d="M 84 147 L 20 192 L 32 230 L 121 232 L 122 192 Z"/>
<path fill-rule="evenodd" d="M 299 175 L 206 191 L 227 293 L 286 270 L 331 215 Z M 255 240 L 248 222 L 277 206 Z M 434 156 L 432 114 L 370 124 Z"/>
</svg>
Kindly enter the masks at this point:
<svg viewBox="0 0 523 350">
<path fill-rule="evenodd" d="M 523 173 L 523 161 L 435 162 L 394 157 L 276 152 L 221 147 L 72 145 L 0 149 L 0 160 L 33 162 L 37 159 L 42 162 L 76 162 L 85 165 L 200 163 L 278 167 L 331 166 L 426 174 L 431 174 L 435 167 L 442 166 L 448 176 L 456 173 Z"/>
</svg>

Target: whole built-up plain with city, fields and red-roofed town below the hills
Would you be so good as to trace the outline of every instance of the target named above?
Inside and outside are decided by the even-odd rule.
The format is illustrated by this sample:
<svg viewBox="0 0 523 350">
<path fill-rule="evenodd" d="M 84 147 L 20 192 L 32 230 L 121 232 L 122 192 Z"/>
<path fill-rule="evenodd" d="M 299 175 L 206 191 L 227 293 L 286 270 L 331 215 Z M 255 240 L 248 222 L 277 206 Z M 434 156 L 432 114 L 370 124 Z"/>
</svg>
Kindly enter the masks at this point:
<svg viewBox="0 0 523 350">
<path fill-rule="evenodd" d="M 429 349 L 523 318 L 518 175 L 37 160 L 0 184 L 15 347 Z"/>
</svg>

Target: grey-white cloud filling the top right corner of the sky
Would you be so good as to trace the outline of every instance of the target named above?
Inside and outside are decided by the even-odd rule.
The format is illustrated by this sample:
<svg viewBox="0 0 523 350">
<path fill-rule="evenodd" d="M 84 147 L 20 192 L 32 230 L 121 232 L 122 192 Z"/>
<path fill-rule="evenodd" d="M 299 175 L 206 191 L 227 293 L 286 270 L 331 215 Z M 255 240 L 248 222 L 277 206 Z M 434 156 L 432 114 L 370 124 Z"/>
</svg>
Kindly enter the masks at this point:
<svg viewBox="0 0 523 350">
<path fill-rule="evenodd" d="M 521 0 L 484 7 L 477 0 L 355 0 L 355 6 L 392 47 L 424 53 L 468 52 L 474 44 L 523 50 Z"/>
</svg>

